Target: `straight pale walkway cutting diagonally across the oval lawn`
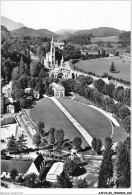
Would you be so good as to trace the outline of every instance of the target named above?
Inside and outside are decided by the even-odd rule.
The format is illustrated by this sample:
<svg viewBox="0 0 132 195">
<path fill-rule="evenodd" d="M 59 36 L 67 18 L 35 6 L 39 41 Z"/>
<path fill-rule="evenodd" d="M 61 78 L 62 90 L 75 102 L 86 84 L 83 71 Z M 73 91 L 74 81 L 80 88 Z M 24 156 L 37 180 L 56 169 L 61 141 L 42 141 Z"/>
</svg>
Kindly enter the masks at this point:
<svg viewBox="0 0 132 195">
<path fill-rule="evenodd" d="M 67 116 L 67 118 L 72 122 L 72 124 L 78 129 L 78 131 L 82 134 L 85 138 L 87 143 L 91 146 L 91 142 L 93 138 L 89 133 L 73 118 L 73 116 L 62 106 L 62 104 L 54 97 L 49 97 L 60 109 L 61 111 Z"/>
</svg>

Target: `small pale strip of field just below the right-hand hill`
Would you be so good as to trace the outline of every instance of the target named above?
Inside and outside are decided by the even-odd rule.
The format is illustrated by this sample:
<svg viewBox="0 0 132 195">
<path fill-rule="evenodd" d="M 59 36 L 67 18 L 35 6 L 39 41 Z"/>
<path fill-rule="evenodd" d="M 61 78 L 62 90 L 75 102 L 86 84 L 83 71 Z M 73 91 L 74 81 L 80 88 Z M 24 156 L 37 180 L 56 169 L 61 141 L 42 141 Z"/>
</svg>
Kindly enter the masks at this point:
<svg viewBox="0 0 132 195">
<path fill-rule="evenodd" d="M 109 37 L 95 37 L 95 38 L 92 38 L 91 37 L 91 41 L 92 43 L 96 43 L 97 41 L 103 41 L 103 42 L 118 42 L 119 38 L 118 38 L 118 35 L 115 35 L 115 36 L 109 36 Z"/>
</svg>

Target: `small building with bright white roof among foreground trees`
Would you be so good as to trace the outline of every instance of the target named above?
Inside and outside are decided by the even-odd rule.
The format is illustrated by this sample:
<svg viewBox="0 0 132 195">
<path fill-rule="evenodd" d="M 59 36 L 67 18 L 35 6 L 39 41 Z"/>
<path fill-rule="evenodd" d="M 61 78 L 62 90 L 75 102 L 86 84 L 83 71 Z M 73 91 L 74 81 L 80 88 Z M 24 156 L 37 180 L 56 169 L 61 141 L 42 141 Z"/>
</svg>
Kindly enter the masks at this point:
<svg viewBox="0 0 132 195">
<path fill-rule="evenodd" d="M 52 165 L 51 169 L 47 173 L 46 180 L 50 182 L 56 182 L 57 176 L 63 172 L 63 162 L 56 162 Z"/>
</svg>

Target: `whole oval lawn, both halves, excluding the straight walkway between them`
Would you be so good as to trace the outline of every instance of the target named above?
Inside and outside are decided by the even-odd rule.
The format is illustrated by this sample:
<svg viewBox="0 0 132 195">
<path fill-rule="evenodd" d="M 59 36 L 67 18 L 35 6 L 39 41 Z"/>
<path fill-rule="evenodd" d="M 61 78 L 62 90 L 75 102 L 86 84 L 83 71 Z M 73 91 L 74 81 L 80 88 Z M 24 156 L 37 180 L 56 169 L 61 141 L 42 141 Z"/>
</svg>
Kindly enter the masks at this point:
<svg viewBox="0 0 132 195">
<path fill-rule="evenodd" d="M 110 122 L 98 111 L 71 100 L 58 100 L 92 137 L 99 137 L 103 141 L 105 137 L 111 135 Z M 76 136 L 79 136 L 83 141 L 82 146 L 87 146 L 87 142 L 80 132 L 52 100 L 44 98 L 37 102 L 35 107 L 30 110 L 30 117 L 36 124 L 38 121 L 43 121 L 45 123 L 45 131 L 48 131 L 51 127 L 63 129 L 65 139 L 73 140 Z"/>
</svg>

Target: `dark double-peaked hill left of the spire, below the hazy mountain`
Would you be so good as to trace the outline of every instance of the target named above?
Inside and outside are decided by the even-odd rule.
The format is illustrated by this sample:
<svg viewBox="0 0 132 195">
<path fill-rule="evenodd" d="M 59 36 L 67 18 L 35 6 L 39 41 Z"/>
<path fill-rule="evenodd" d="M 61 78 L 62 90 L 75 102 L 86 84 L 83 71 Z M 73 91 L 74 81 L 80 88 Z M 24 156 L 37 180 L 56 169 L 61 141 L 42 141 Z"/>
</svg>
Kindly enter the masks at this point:
<svg viewBox="0 0 132 195">
<path fill-rule="evenodd" d="M 54 34 L 51 31 L 48 31 L 46 29 L 35 30 L 33 28 L 27 28 L 27 27 L 12 30 L 11 32 L 13 32 L 18 36 L 30 36 L 30 37 L 51 37 Z"/>
</svg>

